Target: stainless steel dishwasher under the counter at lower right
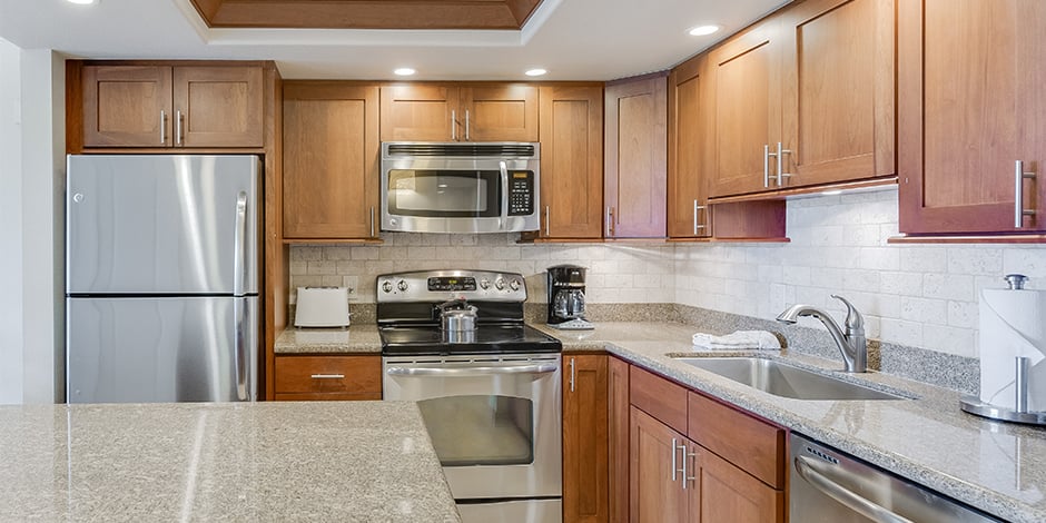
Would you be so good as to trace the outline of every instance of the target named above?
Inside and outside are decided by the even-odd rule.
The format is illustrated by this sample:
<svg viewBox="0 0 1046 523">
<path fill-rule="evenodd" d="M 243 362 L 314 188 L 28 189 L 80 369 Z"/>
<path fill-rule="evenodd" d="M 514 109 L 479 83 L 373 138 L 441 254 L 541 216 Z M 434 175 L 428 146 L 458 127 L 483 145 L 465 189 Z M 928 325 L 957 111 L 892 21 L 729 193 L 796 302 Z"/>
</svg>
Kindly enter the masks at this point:
<svg viewBox="0 0 1046 523">
<path fill-rule="evenodd" d="M 790 474 L 792 522 L 1003 521 L 796 433 Z"/>
</svg>

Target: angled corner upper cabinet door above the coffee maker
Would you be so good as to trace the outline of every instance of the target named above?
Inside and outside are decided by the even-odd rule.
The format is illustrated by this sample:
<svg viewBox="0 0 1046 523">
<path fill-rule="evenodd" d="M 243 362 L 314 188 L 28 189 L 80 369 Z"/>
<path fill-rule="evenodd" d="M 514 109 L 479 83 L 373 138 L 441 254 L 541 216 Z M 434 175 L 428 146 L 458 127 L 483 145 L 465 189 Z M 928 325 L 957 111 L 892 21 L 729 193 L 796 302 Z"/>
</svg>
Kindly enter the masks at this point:
<svg viewBox="0 0 1046 523">
<path fill-rule="evenodd" d="M 608 238 L 664 237 L 667 98 L 663 76 L 606 87 Z"/>
</svg>

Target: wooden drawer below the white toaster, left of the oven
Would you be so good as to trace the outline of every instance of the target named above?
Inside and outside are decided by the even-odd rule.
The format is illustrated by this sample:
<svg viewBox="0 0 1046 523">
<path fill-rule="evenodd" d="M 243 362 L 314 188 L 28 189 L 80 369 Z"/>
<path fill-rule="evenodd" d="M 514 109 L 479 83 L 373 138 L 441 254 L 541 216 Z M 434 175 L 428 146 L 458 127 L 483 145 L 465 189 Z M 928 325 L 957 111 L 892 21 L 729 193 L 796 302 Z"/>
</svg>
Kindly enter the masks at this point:
<svg viewBox="0 0 1046 523">
<path fill-rule="evenodd" d="M 379 399 L 381 356 L 279 356 L 277 399 Z"/>
</svg>

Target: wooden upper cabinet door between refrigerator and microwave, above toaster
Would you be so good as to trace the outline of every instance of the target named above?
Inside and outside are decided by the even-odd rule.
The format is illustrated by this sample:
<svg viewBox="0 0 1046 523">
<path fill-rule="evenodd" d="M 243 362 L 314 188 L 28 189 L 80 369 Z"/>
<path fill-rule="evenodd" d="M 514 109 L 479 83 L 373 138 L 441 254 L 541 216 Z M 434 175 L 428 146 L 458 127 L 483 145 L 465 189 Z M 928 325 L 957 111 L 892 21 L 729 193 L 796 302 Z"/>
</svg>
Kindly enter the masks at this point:
<svg viewBox="0 0 1046 523">
<path fill-rule="evenodd" d="M 372 238 L 378 88 L 284 83 L 284 237 Z"/>
</svg>

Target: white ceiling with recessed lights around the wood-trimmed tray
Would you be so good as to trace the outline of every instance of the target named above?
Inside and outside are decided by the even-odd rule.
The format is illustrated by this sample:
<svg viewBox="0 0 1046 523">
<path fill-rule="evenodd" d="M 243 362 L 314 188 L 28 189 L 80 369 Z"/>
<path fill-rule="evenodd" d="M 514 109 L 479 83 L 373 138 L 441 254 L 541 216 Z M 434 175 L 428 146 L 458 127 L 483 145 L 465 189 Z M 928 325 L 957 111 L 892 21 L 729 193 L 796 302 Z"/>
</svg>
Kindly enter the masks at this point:
<svg viewBox="0 0 1046 523">
<path fill-rule="evenodd" d="M 284 78 L 611 80 L 668 69 L 786 0 L 544 0 L 522 31 L 217 29 L 189 0 L 0 0 L 0 38 L 75 58 L 275 60 Z M 704 23 L 719 33 L 691 37 Z"/>
</svg>

